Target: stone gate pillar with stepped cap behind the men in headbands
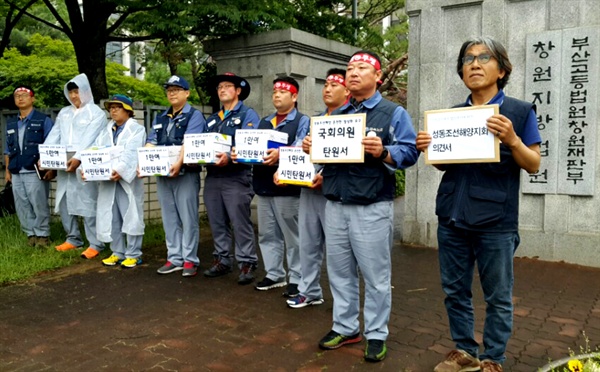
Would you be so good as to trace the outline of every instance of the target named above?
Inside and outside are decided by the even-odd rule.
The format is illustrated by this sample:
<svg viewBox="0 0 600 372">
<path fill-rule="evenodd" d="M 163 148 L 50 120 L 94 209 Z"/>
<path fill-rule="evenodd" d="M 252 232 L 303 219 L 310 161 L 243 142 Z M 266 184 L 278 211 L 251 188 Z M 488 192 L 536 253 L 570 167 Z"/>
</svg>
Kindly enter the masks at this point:
<svg viewBox="0 0 600 372">
<path fill-rule="evenodd" d="M 300 84 L 298 109 L 314 115 L 325 109 L 321 88 L 330 68 L 345 68 L 357 49 L 294 28 L 204 44 L 217 62 L 219 74 L 243 76 L 252 91 L 246 104 L 259 115 L 275 111 L 271 102 L 273 79 L 289 75 Z"/>
</svg>

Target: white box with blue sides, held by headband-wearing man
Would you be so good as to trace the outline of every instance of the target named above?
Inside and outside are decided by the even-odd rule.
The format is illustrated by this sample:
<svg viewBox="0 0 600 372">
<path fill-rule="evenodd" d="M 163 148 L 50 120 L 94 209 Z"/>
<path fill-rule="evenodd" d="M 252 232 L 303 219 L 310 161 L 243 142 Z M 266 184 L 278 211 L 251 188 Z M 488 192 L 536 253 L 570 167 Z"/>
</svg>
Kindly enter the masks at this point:
<svg viewBox="0 0 600 372">
<path fill-rule="evenodd" d="M 286 145 L 287 133 L 273 129 L 238 129 L 235 131 L 235 152 L 240 163 L 262 163 L 267 150 Z"/>
</svg>

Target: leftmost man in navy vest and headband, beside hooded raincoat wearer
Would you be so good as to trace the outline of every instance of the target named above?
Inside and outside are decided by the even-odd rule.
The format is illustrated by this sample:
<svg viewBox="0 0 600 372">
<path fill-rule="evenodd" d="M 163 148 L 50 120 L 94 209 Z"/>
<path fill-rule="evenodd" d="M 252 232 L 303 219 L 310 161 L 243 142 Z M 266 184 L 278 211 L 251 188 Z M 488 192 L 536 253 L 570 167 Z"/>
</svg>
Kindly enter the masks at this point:
<svg viewBox="0 0 600 372">
<path fill-rule="evenodd" d="M 6 122 L 4 179 L 13 184 L 15 209 L 27 244 L 45 247 L 50 236 L 50 184 L 38 177 L 35 167 L 40 158 L 38 145 L 50 133 L 52 120 L 33 108 L 35 93 L 31 87 L 21 85 L 13 95 L 19 114 Z"/>
</svg>

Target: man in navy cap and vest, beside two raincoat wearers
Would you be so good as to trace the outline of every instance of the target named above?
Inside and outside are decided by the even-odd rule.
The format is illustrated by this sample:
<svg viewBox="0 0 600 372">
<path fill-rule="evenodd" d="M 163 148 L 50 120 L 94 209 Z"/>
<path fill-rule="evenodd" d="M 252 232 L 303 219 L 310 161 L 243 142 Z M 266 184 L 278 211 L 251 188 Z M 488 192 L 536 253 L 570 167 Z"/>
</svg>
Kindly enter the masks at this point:
<svg viewBox="0 0 600 372">
<path fill-rule="evenodd" d="M 164 84 L 171 107 L 152 123 L 146 146 L 182 146 L 179 159 L 168 177 L 157 177 L 156 188 L 167 243 L 167 262 L 158 274 L 182 271 L 182 276 L 197 274 L 200 226 L 200 174 L 198 169 L 183 166 L 183 136 L 206 132 L 204 115 L 190 106 L 190 85 L 173 75 Z"/>
</svg>

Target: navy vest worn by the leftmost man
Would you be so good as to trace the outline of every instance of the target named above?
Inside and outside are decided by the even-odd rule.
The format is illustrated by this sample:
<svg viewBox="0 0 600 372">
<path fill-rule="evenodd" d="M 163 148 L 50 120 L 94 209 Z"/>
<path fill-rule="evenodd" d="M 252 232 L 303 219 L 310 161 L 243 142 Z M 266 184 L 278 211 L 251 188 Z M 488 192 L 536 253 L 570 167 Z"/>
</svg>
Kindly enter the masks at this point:
<svg viewBox="0 0 600 372">
<path fill-rule="evenodd" d="M 40 158 L 38 145 L 44 143 L 44 122 L 48 116 L 37 110 L 33 110 L 31 119 L 25 126 L 23 148 L 19 149 L 19 130 L 17 116 L 8 119 L 6 123 L 9 162 L 8 170 L 12 174 L 19 173 L 21 169 L 33 170 L 34 164 Z M 8 134 L 10 130 L 11 134 Z"/>
</svg>

